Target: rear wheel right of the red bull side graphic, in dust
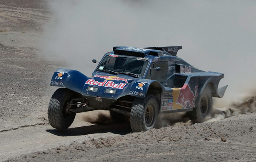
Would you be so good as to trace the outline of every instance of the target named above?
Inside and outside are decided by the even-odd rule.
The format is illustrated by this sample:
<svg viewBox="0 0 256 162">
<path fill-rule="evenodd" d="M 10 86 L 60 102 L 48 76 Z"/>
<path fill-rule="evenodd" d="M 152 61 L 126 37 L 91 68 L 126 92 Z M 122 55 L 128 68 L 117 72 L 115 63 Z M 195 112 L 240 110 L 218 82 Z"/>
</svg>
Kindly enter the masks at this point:
<svg viewBox="0 0 256 162">
<path fill-rule="evenodd" d="M 208 86 L 204 88 L 204 92 L 200 96 L 196 108 L 187 115 L 194 122 L 204 122 L 206 116 L 212 112 L 212 92 Z"/>
</svg>

